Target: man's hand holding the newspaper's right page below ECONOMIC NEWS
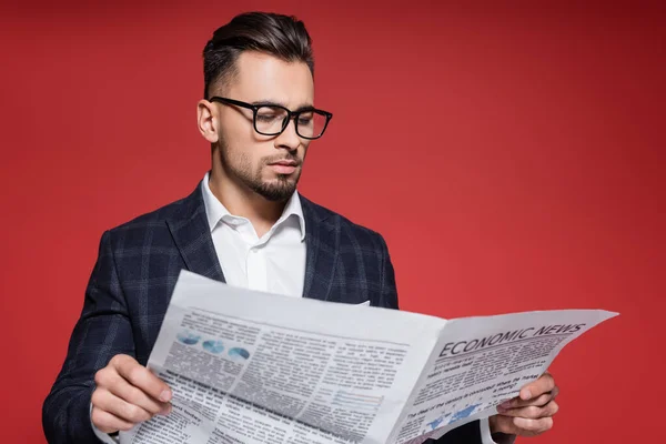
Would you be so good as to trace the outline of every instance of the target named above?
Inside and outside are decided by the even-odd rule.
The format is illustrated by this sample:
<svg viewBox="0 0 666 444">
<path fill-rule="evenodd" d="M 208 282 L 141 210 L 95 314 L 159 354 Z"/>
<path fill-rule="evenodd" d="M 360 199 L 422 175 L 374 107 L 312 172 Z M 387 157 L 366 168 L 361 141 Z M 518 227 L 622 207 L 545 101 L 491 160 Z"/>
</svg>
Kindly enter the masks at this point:
<svg viewBox="0 0 666 444">
<path fill-rule="evenodd" d="M 488 418 L 491 433 L 536 436 L 553 427 L 559 408 L 555 396 L 559 389 L 548 372 L 521 389 L 518 396 L 497 406 L 500 414 Z"/>
</svg>

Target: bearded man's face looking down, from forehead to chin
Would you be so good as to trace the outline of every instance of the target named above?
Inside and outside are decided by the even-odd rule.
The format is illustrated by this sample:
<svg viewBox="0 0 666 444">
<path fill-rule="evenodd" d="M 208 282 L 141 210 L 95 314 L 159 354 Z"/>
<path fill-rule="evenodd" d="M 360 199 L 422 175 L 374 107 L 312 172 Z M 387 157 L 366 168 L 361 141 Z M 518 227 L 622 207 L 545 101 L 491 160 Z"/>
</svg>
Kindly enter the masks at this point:
<svg viewBox="0 0 666 444">
<path fill-rule="evenodd" d="M 302 62 L 285 62 L 260 52 L 243 52 L 238 73 L 220 95 L 252 104 L 280 104 L 292 111 L 314 103 L 314 83 Z M 296 134 L 293 120 L 280 135 L 254 131 L 252 110 L 213 103 L 219 109 L 222 170 L 234 182 L 271 201 L 289 199 L 296 189 L 310 140 Z"/>
</svg>

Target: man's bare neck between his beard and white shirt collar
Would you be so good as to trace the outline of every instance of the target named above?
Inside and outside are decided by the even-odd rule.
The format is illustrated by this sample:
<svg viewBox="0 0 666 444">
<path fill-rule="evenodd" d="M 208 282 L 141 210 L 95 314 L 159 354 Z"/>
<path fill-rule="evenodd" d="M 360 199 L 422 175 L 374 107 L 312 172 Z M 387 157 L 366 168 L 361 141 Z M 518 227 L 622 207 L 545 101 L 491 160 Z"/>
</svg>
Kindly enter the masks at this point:
<svg viewBox="0 0 666 444">
<path fill-rule="evenodd" d="M 254 191 L 234 183 L 224 174 L 211 171 L 209 178 L 211 192 L 233 215 L 248 219 L 256 235 L 261 238 L 278 222 L 286 202 L 273 202 Z"/>
</svg>

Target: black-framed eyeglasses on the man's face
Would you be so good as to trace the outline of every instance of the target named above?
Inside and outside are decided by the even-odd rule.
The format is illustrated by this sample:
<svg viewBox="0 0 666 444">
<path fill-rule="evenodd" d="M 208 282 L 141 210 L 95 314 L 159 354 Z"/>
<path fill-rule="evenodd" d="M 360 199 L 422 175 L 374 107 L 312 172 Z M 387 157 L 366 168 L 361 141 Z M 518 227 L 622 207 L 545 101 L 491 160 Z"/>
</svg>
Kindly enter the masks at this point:
<svg viewBox="0 0 666 444">
<path fill-rule="evenodd" d="M 330 112 L 317 110 L 312 107 L 297 111 L 290 111 L 279 104 L 252 104 L 221 97 L 212 97 L 209 101 L 233 104 L 252 110 L 254 131 L 263 135 L 282 134 L 289 125 L 289 121 L 294 119 L 296 134 L 303 139 L 319 139 L 324 134 L 329 121 L 333 118 L 333 114 Z"/>
</svg>

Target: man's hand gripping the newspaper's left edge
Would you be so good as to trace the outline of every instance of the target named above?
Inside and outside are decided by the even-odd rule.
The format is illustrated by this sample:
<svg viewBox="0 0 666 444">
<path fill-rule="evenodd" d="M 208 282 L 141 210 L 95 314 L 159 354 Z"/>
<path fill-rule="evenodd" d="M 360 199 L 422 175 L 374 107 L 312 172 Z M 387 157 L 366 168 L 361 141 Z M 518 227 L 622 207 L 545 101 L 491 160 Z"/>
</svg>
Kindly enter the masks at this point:
<svg viewBox="0 0 666 444">
<path fill-rule="evenodd" d="M 171 411 L 171 390 L 132 356 L 119 354 L 94 375 L 91 420 L 103 433 L 128 431 Z"/>
</svg>

